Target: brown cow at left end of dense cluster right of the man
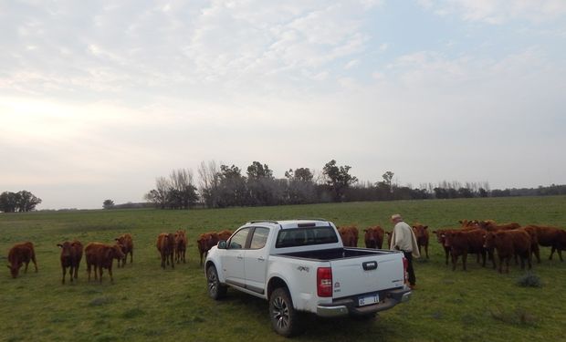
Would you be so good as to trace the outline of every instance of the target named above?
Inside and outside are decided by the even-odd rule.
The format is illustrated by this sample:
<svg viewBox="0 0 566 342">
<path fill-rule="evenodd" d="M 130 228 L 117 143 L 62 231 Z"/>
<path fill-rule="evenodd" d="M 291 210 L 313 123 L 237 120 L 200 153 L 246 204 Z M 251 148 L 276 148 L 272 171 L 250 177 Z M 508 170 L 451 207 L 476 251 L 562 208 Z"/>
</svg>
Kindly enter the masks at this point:
<svg viewBox="0 0 566 342">
<path fill-rule="evenodd" d="M 450 248 L 452 255 L 452 270 L 456 271 L 458 256 L 462 255 L 462 268 L 466 271 L 466 259 L 468 253 L 477 254 L 482 257 L 482 265 L 486 265 L 486 249 L 484 248 L 485 231 L 476 229 L 473 231 L 452 230 L 445 232 L 445 247 Z"/>
</svg>

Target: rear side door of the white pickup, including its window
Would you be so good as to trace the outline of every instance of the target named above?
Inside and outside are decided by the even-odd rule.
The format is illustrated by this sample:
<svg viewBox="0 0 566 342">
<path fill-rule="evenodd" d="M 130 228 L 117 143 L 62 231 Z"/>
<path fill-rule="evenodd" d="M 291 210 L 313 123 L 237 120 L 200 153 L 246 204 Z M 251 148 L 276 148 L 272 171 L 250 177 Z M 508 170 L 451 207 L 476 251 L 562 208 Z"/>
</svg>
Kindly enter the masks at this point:
<svg viewBox="0 0 566 342">
<path fill-rule="evenodd" d="M 249 244 L 244 252 L 246 289 L 264 294 L 267 272 L 267 236 L 269 229 L 255 227 Z"/>
</svg>

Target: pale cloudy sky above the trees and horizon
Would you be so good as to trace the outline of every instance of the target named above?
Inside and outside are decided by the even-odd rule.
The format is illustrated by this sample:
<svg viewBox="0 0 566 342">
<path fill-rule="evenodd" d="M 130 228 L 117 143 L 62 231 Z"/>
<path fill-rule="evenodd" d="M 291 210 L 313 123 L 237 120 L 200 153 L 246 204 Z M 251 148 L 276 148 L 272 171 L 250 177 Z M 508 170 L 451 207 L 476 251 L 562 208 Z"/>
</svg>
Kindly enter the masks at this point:
<svg viewBox="0 0 566 342">
<path fill-rule="evenodd" d="M 0 0 L 0 192 L 330 160 L 360 181 L 566 183 L 566 1 Z"/>
</svg>

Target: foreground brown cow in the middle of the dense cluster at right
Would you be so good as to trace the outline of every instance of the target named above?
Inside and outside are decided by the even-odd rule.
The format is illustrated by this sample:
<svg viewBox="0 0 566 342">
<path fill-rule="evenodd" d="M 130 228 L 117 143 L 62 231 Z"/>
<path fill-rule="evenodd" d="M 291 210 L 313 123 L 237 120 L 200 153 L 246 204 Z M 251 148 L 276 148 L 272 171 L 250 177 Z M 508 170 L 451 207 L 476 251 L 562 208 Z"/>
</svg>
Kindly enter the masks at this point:
<svg viewBox="0 0 566 342">
<path fill-rule="evenodd" d="M 487 248 L 495 248 L 499 259 L 499 273 L 503 273 L 503 261 L 506 265 L 506 273 L 509 273 L 509 260 L 512 256 L 519 255 L 521 269 L 525 269 L 525 259 L 530 263 L 530 236 L 525 230 L 501 230 L 488 232 L 485 245 Z"/>
</svg>

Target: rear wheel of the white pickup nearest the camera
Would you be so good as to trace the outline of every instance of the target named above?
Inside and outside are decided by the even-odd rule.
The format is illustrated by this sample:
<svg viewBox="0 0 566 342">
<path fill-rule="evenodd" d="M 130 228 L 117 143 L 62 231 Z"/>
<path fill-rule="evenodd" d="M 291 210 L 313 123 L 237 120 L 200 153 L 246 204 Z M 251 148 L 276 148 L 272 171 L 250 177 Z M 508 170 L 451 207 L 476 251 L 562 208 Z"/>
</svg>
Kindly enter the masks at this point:
<svg viewBox="0 0 566 342">
<path fill-rule="evenodd" d="M 273 329 L 284 337 L 293 337 L 303 331 L 300 313 L 293 307 L 287 288 L 278 287 L 269 297 L 269 320 Z"/>
</svg>

